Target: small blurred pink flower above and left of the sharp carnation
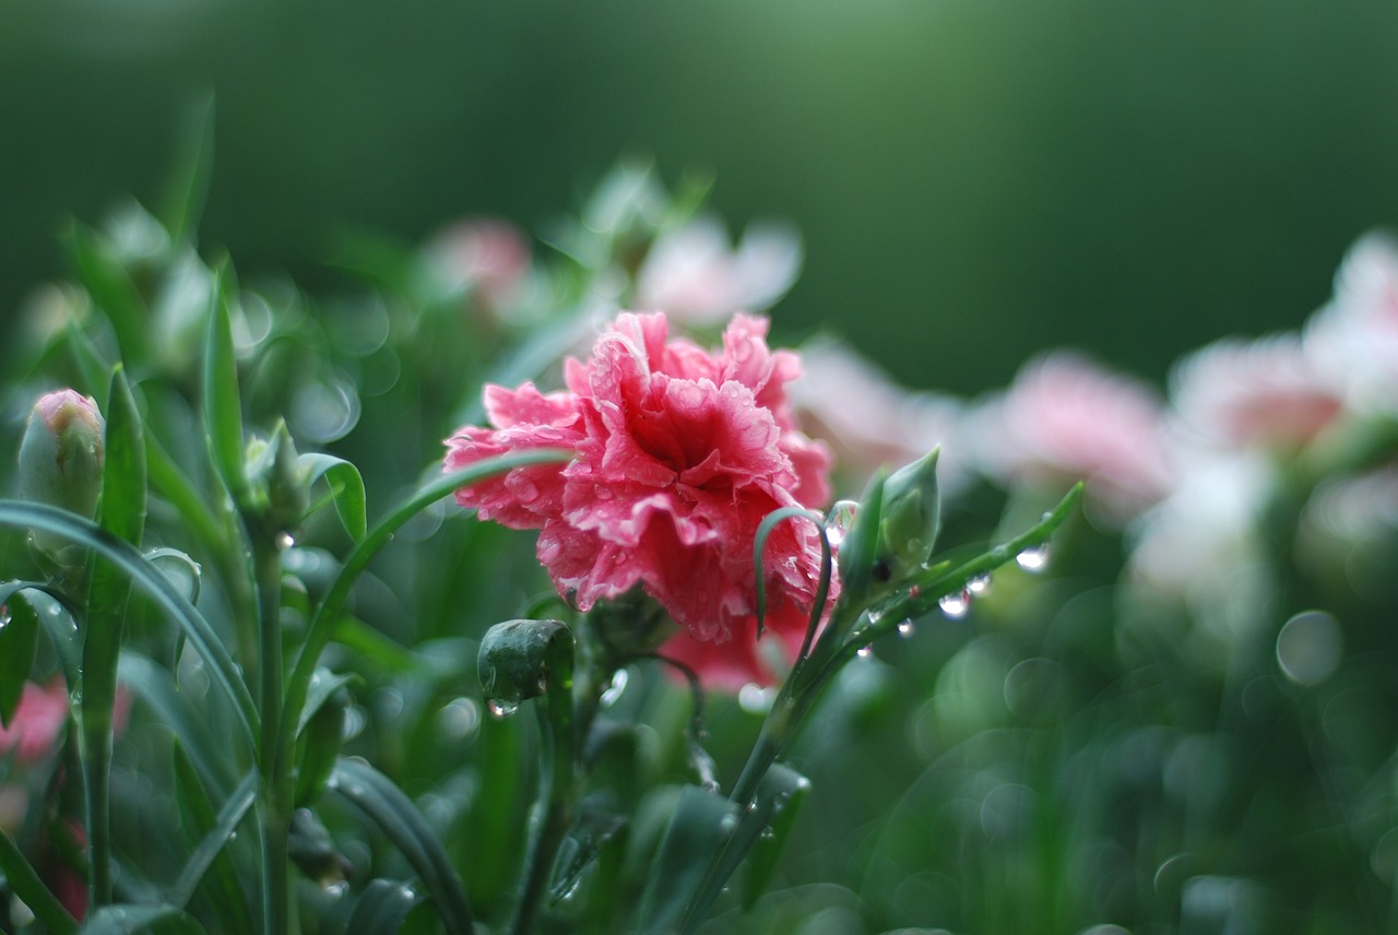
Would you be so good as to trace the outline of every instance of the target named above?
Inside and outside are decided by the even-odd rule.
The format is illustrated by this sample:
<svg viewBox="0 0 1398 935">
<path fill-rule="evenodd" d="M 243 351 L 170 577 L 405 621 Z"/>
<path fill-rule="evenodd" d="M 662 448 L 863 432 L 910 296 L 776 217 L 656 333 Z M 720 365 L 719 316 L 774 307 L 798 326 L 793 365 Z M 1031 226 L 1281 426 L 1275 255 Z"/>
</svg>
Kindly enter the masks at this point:
<svg viewBox="0 0 1398 935">
<path fill-rule="evenodd" d="M 474 289 L 492 312 L 509 305 L 530 268 L 528 238 L 509 221 L 468 218 L 440 231 L 428 257 L 447 285 Z"/>
</svg>

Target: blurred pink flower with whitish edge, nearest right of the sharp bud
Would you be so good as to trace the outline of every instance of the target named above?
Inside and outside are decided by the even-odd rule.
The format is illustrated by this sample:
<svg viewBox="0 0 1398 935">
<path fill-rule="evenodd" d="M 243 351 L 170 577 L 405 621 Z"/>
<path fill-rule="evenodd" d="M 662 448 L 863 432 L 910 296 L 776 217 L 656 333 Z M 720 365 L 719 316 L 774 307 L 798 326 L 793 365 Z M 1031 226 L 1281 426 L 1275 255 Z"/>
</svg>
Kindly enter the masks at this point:
<svg viewBox="0 0 1398 935">
<path fill-rule="evenodd" d="M 1158 396 L 1074 354 L 1025 365 L 963 430 L 1000 482 L 1086 479 L 1089 498 L 1116 521 L 1156 503 L 1172 485 Z"/>
</svg>

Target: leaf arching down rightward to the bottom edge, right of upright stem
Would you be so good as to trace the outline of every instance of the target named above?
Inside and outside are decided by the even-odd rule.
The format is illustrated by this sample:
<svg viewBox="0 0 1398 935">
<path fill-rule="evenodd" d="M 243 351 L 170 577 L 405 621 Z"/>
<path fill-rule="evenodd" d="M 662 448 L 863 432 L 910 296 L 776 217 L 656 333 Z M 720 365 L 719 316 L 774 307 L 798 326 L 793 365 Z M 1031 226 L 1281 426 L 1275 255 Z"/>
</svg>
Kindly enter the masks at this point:
<svg viewBox="0 0 1398 935">
<path fill-rule="evenodd" d="M 341 758 L 329 788 L 354 802 L 393 841 L 422 878 L 449 935 L 471 935 L 471 908 L 432 826 L 389 777 L 362 760 Z"/>
</svg>

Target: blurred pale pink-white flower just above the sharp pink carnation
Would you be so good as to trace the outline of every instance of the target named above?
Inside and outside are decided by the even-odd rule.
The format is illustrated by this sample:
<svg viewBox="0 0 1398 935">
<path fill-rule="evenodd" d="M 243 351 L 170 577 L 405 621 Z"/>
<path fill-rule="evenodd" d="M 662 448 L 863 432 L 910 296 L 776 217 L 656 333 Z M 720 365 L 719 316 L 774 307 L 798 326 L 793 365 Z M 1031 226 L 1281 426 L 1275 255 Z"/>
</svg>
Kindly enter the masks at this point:
<svg viewBox="0 0 1398 935">
<path fill-rule="evenodd" d="M 636 307 L 664 309 L 688 324 L 761 312 L 801 270 L 801 240 L 784 225 L 752 225 L 737 249 L 714 218 L 700 217 L 656 238 L 636 274 Z"/>
</svg>

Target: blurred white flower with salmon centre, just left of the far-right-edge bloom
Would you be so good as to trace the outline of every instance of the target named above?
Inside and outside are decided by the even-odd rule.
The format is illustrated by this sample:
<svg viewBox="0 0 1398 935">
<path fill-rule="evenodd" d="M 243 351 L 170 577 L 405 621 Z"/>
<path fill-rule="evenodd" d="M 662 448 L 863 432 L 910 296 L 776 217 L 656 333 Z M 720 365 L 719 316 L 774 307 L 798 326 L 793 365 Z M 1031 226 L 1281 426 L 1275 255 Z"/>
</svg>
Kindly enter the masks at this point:
<svg viewBox="0 0 1398 935">
<path fill-rule="evenodd" d="M 1296 449 L 1343 408 L 1296 334 L 1195 351 L 1176 365 L 1172 400 L 1186 430 L 1223 447 Z"/>
</svg>

